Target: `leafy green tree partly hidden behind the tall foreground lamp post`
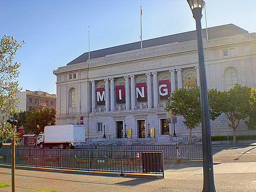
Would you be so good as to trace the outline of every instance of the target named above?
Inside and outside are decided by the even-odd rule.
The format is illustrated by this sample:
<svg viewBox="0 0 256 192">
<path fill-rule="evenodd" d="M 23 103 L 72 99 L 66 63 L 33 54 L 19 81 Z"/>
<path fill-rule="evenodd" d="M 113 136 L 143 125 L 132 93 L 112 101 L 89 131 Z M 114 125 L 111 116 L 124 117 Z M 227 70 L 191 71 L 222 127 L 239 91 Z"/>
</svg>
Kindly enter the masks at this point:
<svg viewBox="0 0 256 192">
<path fill-rule="evenodd" d="M 209 90 L 209 106 L 210 118 L 214 120 L 220 116 L 216 101 L 220 93 L 216 89 Z M 192 129 L 201 123 L 201 105 L 200 105 L 200 89 L 196 85 L 188 85 L 175 89 L 172 96 L 168 99 L 166 112 L 175 112 L 176 115 L 183 116 L 183 124 L 190 129 L 190 144 L 192 143 Z"/>
</svg>

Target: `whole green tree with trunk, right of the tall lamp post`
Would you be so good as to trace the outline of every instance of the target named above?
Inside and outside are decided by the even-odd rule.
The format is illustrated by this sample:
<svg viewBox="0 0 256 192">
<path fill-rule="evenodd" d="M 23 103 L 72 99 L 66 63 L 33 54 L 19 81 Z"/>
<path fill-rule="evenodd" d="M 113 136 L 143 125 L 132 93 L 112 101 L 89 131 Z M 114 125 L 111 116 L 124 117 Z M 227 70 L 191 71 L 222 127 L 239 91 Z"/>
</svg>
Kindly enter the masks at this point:
<svg viewBox="0 0 256 192">
<path fill-rule="evenodd" d="M 228 91 L 221 93 L 220 110 L 224 113 L 225 117 L 229 119 L 229 126 L 233 129 L 233 143 L 237 143 L 235 132 L 240 123 L 248 117 L 250 109 L 250 88 L 247 86 L 242 87 L 239 84 Z"/>
</svg>

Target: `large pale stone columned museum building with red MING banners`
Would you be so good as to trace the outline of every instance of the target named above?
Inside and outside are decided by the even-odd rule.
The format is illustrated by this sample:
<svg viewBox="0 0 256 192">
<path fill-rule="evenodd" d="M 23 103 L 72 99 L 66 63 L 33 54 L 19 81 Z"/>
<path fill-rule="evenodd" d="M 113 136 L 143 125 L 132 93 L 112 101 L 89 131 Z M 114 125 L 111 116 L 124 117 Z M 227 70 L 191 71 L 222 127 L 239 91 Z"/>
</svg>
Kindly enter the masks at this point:
<svg viewBox="0 0 256 192">
<path fill-rule="evenodd" d="M 203 29 L 208 88 L 228 90 L 238 83 L 256 86 L 256 34 L 233 24 Z M 166 122 L 166 100 L 188 82 L 199 85 L 196 31 L 94 50 L 53 72 L 57 76 L 56 124 L 85 125 L 86 139 L 172 141 L 173 124 Z M 79 120 L 78 120 L 79 122 Z M 232 135 L 221 115 L 211 122 L 212 135 Z M 175 132 L 185 139 L 182 117 Z M 243 122 L 237 135 L 256 134 Z M 201 126 L 192 130 L 200 139 Z"/>
</svg>

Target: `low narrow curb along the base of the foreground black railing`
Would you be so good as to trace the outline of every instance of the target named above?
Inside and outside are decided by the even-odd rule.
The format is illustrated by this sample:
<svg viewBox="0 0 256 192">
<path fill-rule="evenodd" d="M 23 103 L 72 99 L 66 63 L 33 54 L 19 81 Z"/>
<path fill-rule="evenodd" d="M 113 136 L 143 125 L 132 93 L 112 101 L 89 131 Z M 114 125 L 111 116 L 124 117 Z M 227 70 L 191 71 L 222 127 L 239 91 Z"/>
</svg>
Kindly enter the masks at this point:
<svg viewBox="0 0 256 192">
<path fill-rule="evenodd" d="M 0 164 L 0 167 L 11 168 L 11 165 Z M 70 169 L 57 169 L 57 168 L 45 168 L 45 167 L 28 167 L 28 166 L 15 166 L 16 169 L 22 170 L 35 170 L 35 171 L 47 171 L 63 174 L 80 174 L 80 175 L 93 175 L 93 176 L 105 176 L 105 177 L 131 177 L 131 178 L 147 178 L 147 179 L 164 179 L 163 176 L 158 174 L 134 174 L 134 173 L 113 173 L 113 172 L 101 172 L 101 171 L 84 171 L 84 170 L 70 170 Z"/>
</svg>

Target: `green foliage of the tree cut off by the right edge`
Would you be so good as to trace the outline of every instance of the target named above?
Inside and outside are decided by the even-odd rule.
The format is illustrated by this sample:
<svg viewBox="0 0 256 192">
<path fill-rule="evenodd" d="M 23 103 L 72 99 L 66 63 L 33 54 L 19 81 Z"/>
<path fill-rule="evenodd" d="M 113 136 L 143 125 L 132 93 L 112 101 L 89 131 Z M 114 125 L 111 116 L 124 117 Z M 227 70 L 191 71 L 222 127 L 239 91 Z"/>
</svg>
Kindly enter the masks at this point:
<svg viewBox="0 0 256 192">
<path fill-rule="evenodd" d="M 248 119 L 245 120 L 245 124 L 248 129 L 256 130 L 256 89 L 254 87 L 250 90 L 250 107 L 248 110 Z"/>
</svg>

